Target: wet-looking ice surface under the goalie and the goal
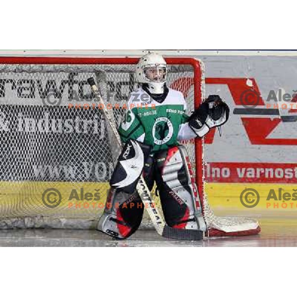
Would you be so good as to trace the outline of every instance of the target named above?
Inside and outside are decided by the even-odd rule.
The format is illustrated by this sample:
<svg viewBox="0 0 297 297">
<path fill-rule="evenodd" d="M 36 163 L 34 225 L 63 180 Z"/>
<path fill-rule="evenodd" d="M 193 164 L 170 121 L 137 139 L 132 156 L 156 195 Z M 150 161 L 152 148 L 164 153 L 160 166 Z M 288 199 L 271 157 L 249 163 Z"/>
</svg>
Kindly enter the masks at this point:
<svg viewBox="0 0 297 297">
<path fill-rule="evenodd" d="M 259 235 L 211 238 L 201 242 L 168 240 L 154 230 L 139 230 L 126 240 L 114 240 L 95 230 L 0 230 L 1 247 L 296 247 L 297 218 L 269 216 L 259 219 Z"/>
</svg>

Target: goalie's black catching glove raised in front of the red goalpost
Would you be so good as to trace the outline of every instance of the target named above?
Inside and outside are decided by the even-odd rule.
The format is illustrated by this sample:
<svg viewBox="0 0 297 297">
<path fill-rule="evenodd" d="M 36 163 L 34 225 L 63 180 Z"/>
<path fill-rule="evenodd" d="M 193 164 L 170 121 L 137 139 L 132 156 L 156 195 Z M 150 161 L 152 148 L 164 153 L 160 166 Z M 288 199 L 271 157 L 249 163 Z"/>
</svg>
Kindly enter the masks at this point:
<svg viewBox="0 0 297 297">
<path fill-rule="evenodd" d="M 190 116 L 189 126 L 199 137 L 203 137 L 210 128 L 225 124 L 229 118 L 229 111 L 228 105 L 220 96 L 209 95 Z"/>
</svg>

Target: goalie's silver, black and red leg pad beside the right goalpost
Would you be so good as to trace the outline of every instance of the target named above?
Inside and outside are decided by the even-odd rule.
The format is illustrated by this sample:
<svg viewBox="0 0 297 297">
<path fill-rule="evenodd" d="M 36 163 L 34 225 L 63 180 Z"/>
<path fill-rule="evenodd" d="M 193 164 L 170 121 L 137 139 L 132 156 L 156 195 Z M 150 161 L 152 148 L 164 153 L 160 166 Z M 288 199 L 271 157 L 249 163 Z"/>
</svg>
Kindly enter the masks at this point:
<svg viewBox="0 0 297 297">
<path fill-rule="evenodd" d="M 183 146 L 159 151 L 155 178 L 166 223 L 173 228 L 206 231 L 197 186 Z"/>
</svg>

